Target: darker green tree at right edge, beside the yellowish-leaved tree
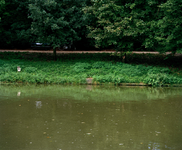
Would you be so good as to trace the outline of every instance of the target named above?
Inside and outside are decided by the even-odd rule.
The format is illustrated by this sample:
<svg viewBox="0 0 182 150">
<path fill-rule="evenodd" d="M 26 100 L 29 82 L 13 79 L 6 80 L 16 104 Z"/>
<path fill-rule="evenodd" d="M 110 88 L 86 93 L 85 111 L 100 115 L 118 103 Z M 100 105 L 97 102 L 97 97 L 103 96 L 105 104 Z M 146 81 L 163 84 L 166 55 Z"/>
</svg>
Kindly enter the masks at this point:
<svg viewBox="0 0 182 150">
<path fill-rule="evenodd" d="M 182 1 L 167 0 L 158 5 L 157 20 L 151 20 L 150 31 L 154 35 L 147 40 L 154 41 L 159 52 L 182 51 Z"/>
</svg>

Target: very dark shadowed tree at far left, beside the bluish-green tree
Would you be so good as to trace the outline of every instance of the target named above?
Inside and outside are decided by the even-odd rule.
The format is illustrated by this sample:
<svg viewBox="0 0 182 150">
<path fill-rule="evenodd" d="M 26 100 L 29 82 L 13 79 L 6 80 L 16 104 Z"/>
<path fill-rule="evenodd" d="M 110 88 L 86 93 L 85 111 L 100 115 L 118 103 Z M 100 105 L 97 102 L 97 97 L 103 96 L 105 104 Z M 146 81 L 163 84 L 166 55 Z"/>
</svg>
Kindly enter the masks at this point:
<svg viewBox="0 0 182 150">
<path fill-rule="evenodd" d="M 8 0 L 0 13 L 0 43 L 2 47 L 27 47 L 29 43 L 30 20 L 27 0 Z"/>
</svg>

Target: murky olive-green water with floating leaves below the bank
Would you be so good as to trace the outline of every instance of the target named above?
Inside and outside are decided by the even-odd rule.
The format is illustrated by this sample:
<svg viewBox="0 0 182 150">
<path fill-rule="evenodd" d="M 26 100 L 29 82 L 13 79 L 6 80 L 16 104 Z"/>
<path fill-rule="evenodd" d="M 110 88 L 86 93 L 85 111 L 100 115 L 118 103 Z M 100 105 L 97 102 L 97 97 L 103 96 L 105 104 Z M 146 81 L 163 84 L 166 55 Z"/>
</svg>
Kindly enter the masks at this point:
<svg viewBox="0 0 182 150">
<path fill-rule="evenodd" d="M 182 88 L 0 86 L 0 150 L 180 150 Z"/>
</svg>

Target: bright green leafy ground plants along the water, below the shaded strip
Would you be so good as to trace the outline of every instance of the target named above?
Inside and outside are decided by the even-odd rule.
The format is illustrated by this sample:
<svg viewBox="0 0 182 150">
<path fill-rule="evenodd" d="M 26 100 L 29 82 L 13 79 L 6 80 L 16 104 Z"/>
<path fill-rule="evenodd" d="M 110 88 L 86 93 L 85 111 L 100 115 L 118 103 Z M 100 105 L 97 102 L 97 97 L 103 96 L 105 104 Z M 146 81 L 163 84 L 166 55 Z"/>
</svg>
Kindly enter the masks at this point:
<svg viewBox="0 0 182 150">
<path fill-rule="evenodd" d="M 97 57 L 95 58 L 95 56 Z M 153 86 L 182 83 L 179 70 L 171 71 L 168 68 L 131 65 L 122 62 L 111 63 L 103 56 L 106 57 L 101 54 L 65 55 L 59 61 L 27 61 L 13 56 L 14 60 L 0 60 L 0 63 L 3 64 L 0 66 L 0 80 L 41 84 L 85 84 L 87 77 L 93 77 L 94 81 L 100 83 L 144 82 Z M 103 61 L 104 59 L 106 61 Z M 21 72 L 17 72 L 17 66 L 22 68 Z"/>
</svg>

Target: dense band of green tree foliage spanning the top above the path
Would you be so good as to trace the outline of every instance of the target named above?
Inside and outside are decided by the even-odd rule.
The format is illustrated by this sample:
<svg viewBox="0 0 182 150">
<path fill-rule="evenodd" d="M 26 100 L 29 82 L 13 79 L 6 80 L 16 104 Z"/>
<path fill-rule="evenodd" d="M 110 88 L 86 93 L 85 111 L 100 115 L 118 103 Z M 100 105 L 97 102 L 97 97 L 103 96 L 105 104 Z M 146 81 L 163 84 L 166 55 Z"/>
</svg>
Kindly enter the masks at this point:
<svg viewBox="0 0 182 150">
<path fill-rule="evenodd" d="M 181 0 L 1 0 L 0 48 L 181 51 Z M 56 52 L 56 51 L 54 51 Z"/>
</svg>

